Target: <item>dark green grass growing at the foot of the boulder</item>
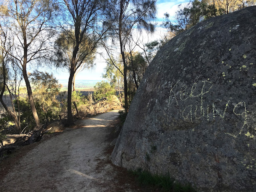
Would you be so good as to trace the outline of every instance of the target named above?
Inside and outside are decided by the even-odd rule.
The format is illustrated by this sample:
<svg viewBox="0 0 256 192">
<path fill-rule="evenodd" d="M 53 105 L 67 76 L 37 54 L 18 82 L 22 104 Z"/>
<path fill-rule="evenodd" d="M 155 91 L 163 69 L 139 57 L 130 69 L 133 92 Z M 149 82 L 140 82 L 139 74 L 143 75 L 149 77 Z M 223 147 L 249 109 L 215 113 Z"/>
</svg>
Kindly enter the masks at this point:
<svg viewBox="0 0 256 192">
<path fill-rule="evenodd" d="M 144 186 L 160 187 L 165 192 L 196 192 L 191 185 L 182 185 L 170 178 L 169 174 L 157 175 L 148 171 L 132 171 L 138 182 Z"/>
</svg>

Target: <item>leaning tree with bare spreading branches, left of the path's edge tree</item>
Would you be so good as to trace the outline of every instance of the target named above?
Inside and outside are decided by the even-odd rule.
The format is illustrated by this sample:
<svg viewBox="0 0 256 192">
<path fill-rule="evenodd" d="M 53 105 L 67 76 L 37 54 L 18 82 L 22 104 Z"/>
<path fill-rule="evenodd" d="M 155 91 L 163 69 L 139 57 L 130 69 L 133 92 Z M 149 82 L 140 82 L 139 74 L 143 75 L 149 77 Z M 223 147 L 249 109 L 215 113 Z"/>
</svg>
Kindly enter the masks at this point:
<svg viewBox="0 0 256 192">
<path fill-rule="evenodd" d="M 42 62 L 43 59 L 49 59 L 50 42 L 54 35 L 50 23 L 53 10 L 57 6 L 52 0 L 6 0 L 6 2 L 5 17 L 10 20 L 9 29 L 15 36 L 15 42 L 14 51 L 5 51 L 18 61 L 22 70 L 30 107 L 36 122 L 34 131 L 40 133 L 42 127 L 36 112 L 27 67 L 28 64 L 35 64 L 36 60 Z"/>
</svg>

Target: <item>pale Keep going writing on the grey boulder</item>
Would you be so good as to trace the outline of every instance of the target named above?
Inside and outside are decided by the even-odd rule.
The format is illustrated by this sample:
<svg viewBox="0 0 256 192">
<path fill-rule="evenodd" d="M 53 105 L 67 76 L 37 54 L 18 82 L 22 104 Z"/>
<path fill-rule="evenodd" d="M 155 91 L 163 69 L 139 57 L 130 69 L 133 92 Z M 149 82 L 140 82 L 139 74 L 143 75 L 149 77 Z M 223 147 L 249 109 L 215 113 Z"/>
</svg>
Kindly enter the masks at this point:
<svg viewBox="0 0 256 192">
<path fill-rule="evenodd" d="M 207 121 L 216 120 L 219 116 L 224 120 L 228 108 L 232 108 L 234 115 L 242 119 L 242 126 L 237 134 L 226 133 L 230 136 L 237 137 L 242 133 L 247 121 L 246 103 L 244 101 L 234 103 L 231 100 L 224 102 L 222 110 L 217 106 L 217 101 L 212 101 L 214 84 L 208 80 L 195 82 L 191 88 L 178 80 L 175 84 L 172 82 L 168 88 L 170 89 L 168 106 L 179 106 L 180 115 L 186 121 L 196 121 L 198 119 L 205 119 Z M 211 94 L 210 94 L 211 93 Z M 189 104 L 188 104 L 189 103 Z M 242 109 L 241 109 L 242 108 Z"/>
</svg>

